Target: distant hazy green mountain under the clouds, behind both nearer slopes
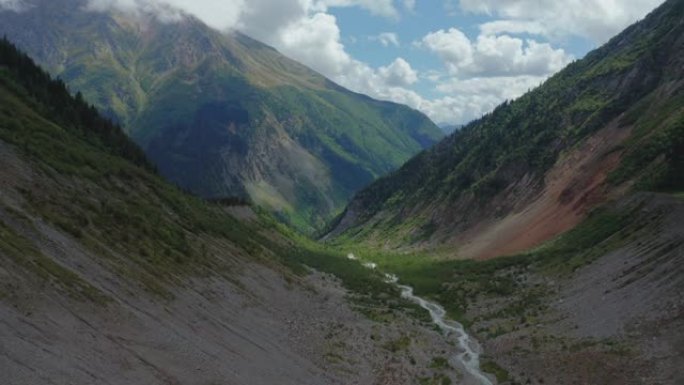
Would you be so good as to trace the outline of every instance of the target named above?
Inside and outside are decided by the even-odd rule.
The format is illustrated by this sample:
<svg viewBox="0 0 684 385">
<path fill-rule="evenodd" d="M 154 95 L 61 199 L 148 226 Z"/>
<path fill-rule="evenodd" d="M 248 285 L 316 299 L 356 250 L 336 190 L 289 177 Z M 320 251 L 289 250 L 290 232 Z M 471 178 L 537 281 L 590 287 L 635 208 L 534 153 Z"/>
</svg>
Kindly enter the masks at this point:
<svg viewBox="0 0 684 385">
<path fill-rule="evenodd" d="M 0 33 L 118 119 L 165 177 L 204 197 L 249 197 L 302 229 L 443 135 L 238 32 L 91 12 L 86 0 L 33 3 L 0 12 Z"/>
</svg>

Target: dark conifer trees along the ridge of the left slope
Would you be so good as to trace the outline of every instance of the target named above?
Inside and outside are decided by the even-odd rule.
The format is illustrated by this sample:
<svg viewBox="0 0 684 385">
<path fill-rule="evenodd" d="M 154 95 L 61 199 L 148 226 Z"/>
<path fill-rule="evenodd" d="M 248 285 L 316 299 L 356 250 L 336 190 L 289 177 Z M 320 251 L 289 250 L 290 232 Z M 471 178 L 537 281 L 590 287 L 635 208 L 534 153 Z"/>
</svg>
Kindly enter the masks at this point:
<svg viewBox="0 0 684 385">
<path fill-rule="evenodd" d="M 55 123 L 78 130 L 86 141 L 106 152 L 121 156 L 138 166 L 156 172 L 143 150 L 119 127 L 100 115 L 81 93 L 73 96 L 62 80 L 52 77 L 6 37 L 0 40 L 0 70 L 9 71 Z"/>
</svg>

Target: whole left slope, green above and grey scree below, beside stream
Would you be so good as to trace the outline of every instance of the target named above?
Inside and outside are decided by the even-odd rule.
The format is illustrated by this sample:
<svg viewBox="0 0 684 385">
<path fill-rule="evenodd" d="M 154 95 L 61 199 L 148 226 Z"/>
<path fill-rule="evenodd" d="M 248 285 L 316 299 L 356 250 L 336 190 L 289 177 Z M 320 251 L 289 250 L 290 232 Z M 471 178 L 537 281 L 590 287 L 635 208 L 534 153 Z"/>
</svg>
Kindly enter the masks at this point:
<svg viewBox="0 0 684 385">
<path fill-rule="evenodd" d="M 4 40 L 0 164 L 2 383 L 456 379 L 431 367 L 447 341 L 379 274 L 183 194 Z"/>
</svg>

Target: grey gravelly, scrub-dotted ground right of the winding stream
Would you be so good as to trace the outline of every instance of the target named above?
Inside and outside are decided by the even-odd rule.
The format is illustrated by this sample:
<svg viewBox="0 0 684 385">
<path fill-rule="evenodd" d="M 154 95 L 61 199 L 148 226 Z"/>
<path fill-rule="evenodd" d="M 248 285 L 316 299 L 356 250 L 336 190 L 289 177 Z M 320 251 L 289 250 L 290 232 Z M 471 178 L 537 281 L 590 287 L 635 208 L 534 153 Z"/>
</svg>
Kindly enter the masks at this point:
<svg viewBox="0 0 684 385">
<path fill-rule="evenodd" d="M 533 251 L 484 261 L 359 252 L 444 304 L 500 384 L 684 381 L 684 195 L 603 205 Z"/>
</svg>

